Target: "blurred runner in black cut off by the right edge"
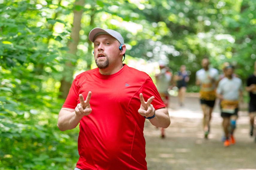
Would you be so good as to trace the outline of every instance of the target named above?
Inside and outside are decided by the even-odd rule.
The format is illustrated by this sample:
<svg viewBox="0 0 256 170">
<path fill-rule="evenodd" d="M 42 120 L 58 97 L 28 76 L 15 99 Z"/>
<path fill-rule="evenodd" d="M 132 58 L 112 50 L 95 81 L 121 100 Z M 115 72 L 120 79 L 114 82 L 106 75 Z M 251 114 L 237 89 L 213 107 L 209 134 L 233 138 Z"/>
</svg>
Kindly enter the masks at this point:
<svg viewBox="0 0 256 170">
<path fill-rule="evenodd" d="M 249 117 L 250 117 L 250 136 L 253 136 L 254 129 L 254 118 L 256 116 L 256 61 L 254 62 L 254 72 L 247 79 L 246 91 L 249 92 L 250 102 L 249 102 Z M 255 138 L 256 142 L 256 138 Z"/>
</svg>

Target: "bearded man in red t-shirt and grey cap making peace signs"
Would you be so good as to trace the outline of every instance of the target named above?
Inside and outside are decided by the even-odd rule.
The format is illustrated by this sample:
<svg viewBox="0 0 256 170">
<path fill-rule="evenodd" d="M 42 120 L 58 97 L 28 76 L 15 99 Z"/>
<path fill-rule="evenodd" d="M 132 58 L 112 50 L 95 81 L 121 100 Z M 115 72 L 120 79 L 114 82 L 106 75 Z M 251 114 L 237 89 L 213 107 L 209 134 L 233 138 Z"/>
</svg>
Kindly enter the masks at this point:
<svg viewBox="0 0 256 170">
<path fill-rule="evenodd" d="M 95 28 L 89 39 L 98 68 L 76 76 L 57 124 L 65 131 L 80 123 L 75 170 L 147 169 L 145 118 L 167 128 L 169 113 L 149 75 L 122 63 L 120 33 Z"/>
</svg>

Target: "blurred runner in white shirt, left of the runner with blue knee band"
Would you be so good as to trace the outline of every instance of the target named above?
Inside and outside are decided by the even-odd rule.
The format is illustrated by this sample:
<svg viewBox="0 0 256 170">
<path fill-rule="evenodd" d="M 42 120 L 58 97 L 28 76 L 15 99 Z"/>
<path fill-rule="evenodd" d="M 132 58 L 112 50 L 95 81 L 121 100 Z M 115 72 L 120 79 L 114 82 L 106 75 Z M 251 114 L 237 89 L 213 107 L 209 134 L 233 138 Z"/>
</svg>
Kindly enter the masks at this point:
<svg viewBox="0 0 256 170">
<path fill-rule="evenodd" d="M 208 58 L 202 60 L 202 69 L 196 72 L 196 85 L 200 86 L 200 102 L 203 117 L 203 128 L 205 131 L 205 138 L 208 138 L 210 132 L 210 120 L 215 104 L 216 92 L 219 81 L 219 72 L 215 68 L 209 68 L 210 61 Z"/>
</svg>

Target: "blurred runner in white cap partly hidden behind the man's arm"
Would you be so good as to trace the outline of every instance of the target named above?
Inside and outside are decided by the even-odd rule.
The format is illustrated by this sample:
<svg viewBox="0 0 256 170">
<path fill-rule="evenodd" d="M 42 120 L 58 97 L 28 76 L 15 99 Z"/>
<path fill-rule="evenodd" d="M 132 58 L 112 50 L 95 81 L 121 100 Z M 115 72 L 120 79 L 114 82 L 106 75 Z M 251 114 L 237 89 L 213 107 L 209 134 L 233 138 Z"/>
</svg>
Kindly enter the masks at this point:
<svg viewBox="0 0 256 170">
<path fill-rule="evenodd" d="M 159 69 L 160 73 L 155 74 L 156 78 L 156 86 L 157 90 L 163 100 L 163 103 L 165 104 L 166 108 L 168 108 L 169 103 L 169 93 L 168 89 L 171 89 L 173 84 L 173 76 L 172 73 L 169 72 L 169 67 L 166 67 L 166 64 L 164 61 L 159 61 Z M 161 138 L 165 137 L 164 128 L 160 128 L 161 130 Z"/>
</svg>

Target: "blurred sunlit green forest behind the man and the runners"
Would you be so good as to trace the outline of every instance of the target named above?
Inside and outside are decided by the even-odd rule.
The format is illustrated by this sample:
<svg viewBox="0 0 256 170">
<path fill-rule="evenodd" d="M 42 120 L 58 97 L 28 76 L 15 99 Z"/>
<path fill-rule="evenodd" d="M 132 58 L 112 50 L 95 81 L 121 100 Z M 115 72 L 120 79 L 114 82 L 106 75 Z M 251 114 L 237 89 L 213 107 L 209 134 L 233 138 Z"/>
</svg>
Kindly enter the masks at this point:
<svg viewBox="0 0 256 170">
<path fill-rule="evenodd" d="M 0 169 L 74 169 L 79 128 L 60 132 L 57 118 L 73 78 L 96 68 L 93 28 L 121 33 L 124 63 L 153 81 L 159 60 L 173 74 L 186 65 L 187 92 L 198 92 L 195 73 L 204 57 L 220 73 L 223 63 L 233 64 L 246 84 L 256 58 L 255 6 L 251 0 L 0 0 Z"/>
</svg>

